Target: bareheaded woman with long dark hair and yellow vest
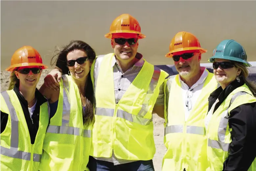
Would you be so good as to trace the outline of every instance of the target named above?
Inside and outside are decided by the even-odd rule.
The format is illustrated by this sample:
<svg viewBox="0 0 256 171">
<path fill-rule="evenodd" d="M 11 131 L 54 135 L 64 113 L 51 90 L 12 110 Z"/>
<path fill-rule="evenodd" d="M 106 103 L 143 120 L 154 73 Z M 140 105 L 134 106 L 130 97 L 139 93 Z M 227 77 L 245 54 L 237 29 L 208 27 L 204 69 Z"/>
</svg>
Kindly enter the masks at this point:
<svg viewBox="0 0 256 171">
<path fill-rule="evenodd" d="M 49 89 L 45 83 L 39 89 L 49 99 L 51 109 L 39 170 L 88 170 L 94 122 L 90 67 L 96 54 L 87 43 L 76 40 L 57 55 L 63 74 L 59 89 Z"/>
</svg>

